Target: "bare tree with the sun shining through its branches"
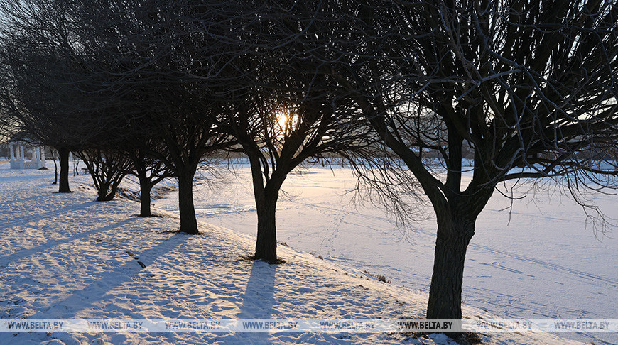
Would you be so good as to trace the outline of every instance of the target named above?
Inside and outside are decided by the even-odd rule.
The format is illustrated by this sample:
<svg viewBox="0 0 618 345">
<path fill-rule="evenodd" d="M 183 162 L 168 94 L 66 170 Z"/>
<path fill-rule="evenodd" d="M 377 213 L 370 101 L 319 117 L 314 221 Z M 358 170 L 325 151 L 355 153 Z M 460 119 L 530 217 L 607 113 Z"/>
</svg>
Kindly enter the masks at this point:
<svg viewBox="0 0 618 345">
<path fill-rule="evenodd" d="M 220 127 L 249 158 L 258 216 L 253 257 L 271 263 L 278 261 L 276 204 L 288 173 L 308 159 L 357 148 L 366 135 L 357 107 L 340 97 L 336 80 L 322 72 L 326 66 L 303 53 L 314 33 L 310 21 L 316 9 L 310 3 L 289 9 L 228 1 L 210 6 L 212 15 L 205 17 L 217 18 L 219 41 L 233 62 L 219 72 L 227 82 L 213 90 L 224 100 Z"/>
</svg>

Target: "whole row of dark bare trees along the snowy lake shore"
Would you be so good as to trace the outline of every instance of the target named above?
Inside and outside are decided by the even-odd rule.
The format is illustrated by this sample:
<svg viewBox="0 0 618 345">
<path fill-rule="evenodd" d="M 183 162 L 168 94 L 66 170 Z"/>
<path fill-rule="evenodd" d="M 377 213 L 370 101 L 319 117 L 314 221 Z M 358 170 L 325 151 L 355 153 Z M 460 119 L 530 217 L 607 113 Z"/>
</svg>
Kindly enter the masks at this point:
<svg viewBox="0 0 618 345">
<path fill-rule="evenodd" d="M 399 216 L 414 214 L 410 196 L 429 199 L 430 318 L 461 317 L 466 248 L 500 182 L 547 177 L 574 197 L 615 186 L 615 162 L 598 164 L 617 147 L 615 1 L 1 6 L 4 123 L 58 149 L 60 192 L 70 151 L 100 200 L 137 175 L 145 216 L 151 187 L 173 176 L 180 231 L 197 234 L 195 171 L 239 151 L 254 185 L 255 258 L 276 261 L 288 173 L 347 158 Z M 473 153 L 467 185 L 463 152 Z"/>
</svg>

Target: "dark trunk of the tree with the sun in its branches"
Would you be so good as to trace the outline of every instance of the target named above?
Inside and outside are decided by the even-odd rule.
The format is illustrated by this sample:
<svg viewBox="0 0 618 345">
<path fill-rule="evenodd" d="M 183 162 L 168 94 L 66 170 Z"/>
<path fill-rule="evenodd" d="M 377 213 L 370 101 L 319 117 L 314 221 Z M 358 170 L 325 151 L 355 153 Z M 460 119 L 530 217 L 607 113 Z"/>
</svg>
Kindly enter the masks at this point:
<svg viewBox="0 0 618 345">
<path fill-rule="evenodd" d="M 277 228 L 275 209 L 277 194 L 265 197 L 264 202 L 256 203 L 258 215 L 258 233 L 255 246 L 255 259 L 269 262 L 277 261 Z"/>
</svg>

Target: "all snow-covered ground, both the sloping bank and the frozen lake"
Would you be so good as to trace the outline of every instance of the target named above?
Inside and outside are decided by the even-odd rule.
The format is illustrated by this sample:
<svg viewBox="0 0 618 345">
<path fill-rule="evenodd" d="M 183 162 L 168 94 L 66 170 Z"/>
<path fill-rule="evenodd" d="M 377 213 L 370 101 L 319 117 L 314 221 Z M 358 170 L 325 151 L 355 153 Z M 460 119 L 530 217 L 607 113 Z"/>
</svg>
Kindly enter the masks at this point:
<svg viewBox="0 0 618 345">
<path fill-rule="evenodd" d="M 352 187 L 347 170 L 335 169 L 334 175 L 321 168 L 309 172 L 293 175 L 286 182 L 286 191 L 298 195 L 281 199 L 278 228 L 281 241 L 291 247 L 279 248 L 287 263 L 268 265 L 239 259 L 254 246 L 254 209 L 243 175 L 246 168 L 240 168 L 238 179 L 219 181 L 216 190 L 197 187 L 195 199 L 204 221 L 200 225 L 203 235 L 189 236 L 168 232 L 178 229 L 173 212 L 156 211 L 165 217 L 142 219 L 135 217 L 136 202 L 94 202 L 92 189 L 79 187 L 80 183 L 91 183 L 88 176 L 70 177 L 75 193 L 58 194 L 54 193 L 56 186 L 50 185 L 52 170 L 9 170 L 8 164 L 0 164 L 0 318 L 422 317 L 427 296 L 416 288 L 428 285 L 433 223 L 415 226 L 407 241 L 402 240 L 383 212 L 347 204 L 349 195 L 340 195 Z M 175 198 L 173 193 L 158 199 L 156 207 L 173 211 Z M 494 207 L 501 205 L 489 208 Z M 488 216 L 489 212 L 479 222 L 470 249 L 465 315 L 495 317 L 473 307 L 480 305 L 504 317 L 524 317 L 527 310 L 541 310 L 531 315 L 554 316 L 558 308 L 566 313 L 571 307 L 565 301 L 575 299 L 580 310 L 588 312 L 582 317 L 613 317 L 615 241 L 604 242 L 607 248 L 594 241 L 586 243 L 585 236 L 560 242 L 558 227 L 553 243 L 535 245 L 534 236 L 539 236 L 538 241 L 552 239 L 546 234 L 552 229 L 538 228 L 558 220 L 538 217 L 536 223 L 521 224 L 536 229 L 516 229 L 520 224 L 516 218 L 506 226 L 506 222 L 499 224 L 499 218 Z M 568 221 L 562 226 L 581 227 L 567 207 L 563 212 Z M 560 219 L 560 214 L 545 217 Z M 505 231 L 511 228 L 515 229 Z M 521 231 L 528 231 L 526 248 L 513 243 L 523 236 Z M 575 236 L 572 232 L 576 234 L 568 234 Z M 588 236 L 594 239 L 592 234 Z M 578 249 L 586 246 L 587 251 Z M 134 257 L 146 267 L 141 268 Z M 384 274 L 393 283 L 368 279 L 363 270 Z M 534 275 L 538 286 L 527 282 L 528 275 Z M 549 280 L 558 282 L 555 284 L 563 290 L 547 283 L 546 275 L 553 275 Z M 544 296 L 539 289 L 574 297 Z M 595 291 L 604 294 L 597 297 L 603 300 L 590 305 L 595 299 L 588 295 Z M 528 309 L 533 302 L 546 307 Z M 501 313 L 500 307 L 506 313 Z M 490 334 L 483 339 L 489 344 L 570 343 L 553 334 L 533 333 Z M 448 344 L 448 339 L 435 334 L 416 339 L 386 333 L 0 333 L 0 344 L 104 342 Z"/>
</svg>

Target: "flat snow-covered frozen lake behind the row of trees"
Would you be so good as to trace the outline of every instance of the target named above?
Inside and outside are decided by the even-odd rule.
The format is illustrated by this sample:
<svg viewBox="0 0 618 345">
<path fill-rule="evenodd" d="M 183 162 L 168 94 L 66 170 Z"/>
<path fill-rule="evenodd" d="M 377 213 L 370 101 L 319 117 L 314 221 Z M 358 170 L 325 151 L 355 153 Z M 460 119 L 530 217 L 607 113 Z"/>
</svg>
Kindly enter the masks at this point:
<svg viewBox="0 0 618 345">
<path fill-rule="evenodd" d="M 254 235 L 249 168 L 234 168 L 236 175 L 214 187 L 196 187 L 197 217 Z M 283 185 L 288 197 L 278 202 L 279 241 L 332 263 L 385 275 L 396 285 L 429 290 L 433 217 L 399 229 L 383 210 L 351 202 L 356 178 L 349 169 L 334 165 L 301 171 Z M 521 185 L 515 196 L 530 187 Z M 175 212 L 177 197 L 174 193 L 155 204 Z M 618 195 L 593 199 L 608 217 L 618 217 Z M 581 207 L 551 189 L 515 200 L 506 209 L 510 203 L 495 193 L 477 221 L 465 266 L 465 304 L 502 317 L 618 318 L 618 229 L 595 234 Z M 564 336 L 618 344 L 618 334 Z"/>
</svg>

